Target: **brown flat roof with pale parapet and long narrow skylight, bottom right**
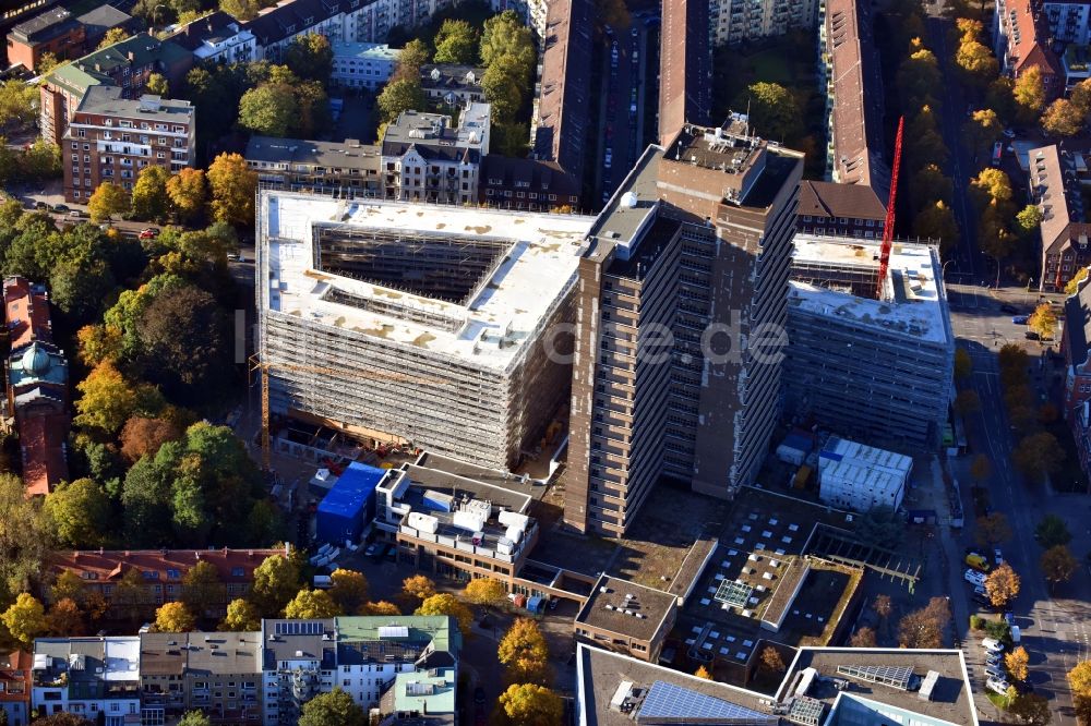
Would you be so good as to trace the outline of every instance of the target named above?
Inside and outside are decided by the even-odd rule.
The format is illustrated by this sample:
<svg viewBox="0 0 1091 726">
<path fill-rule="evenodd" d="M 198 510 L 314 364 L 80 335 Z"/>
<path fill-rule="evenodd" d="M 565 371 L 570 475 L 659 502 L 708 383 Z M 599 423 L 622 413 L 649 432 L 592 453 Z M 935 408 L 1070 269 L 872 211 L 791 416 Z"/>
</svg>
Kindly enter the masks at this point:
<svg viewBox="0 0 1091 726">
<path fill-rule="evenodd" d="M 839 675 L 838 666 L 896 666 L 911 667 L 920 678 L 930 670 L 939 674 L 932 692 L 932 700 L 924 701 L 916 691 L 901 691 L 880 683 L 867 682 L 861 678 Z M 815 668 L 826 677 L 846 678 L 850 686 L 844 693 L 862 697 L 906 711 L 924 714 L 957 726 L 978 726 L 973 697 L 966 670 L 962 652 L 957 650 L 910 650 L 878 648 L 801 648 L 792 662 L 777 692 L 778 700 L 784 700 L 799 682 L 799 674 L 804 668 Z M 827 705 L 832 705 L 838 691 L 829 681 L 814 685 L 807 695 Z"/>
</svg>

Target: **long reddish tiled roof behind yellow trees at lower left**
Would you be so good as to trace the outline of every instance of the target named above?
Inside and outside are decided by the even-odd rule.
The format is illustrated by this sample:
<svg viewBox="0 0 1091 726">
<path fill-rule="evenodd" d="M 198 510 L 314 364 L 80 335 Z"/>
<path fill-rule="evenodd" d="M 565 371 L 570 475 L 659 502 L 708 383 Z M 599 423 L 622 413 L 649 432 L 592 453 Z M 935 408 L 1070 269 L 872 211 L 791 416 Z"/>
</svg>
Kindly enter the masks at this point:
<svg viewBox="0 0 1091 726">
<path fill-rule="evenodd" d="M 76 549 L 58 550 L 48 565 L 55 571 L 68 570 L 86 580 L 120 579 L 129 568 L 153 572 L 152 581 L 180 582 L 190 568 L 205 561 L 215 566 L 224 583 L 250 582 L 254 569 L 284 549 Z"/>
</svg>

